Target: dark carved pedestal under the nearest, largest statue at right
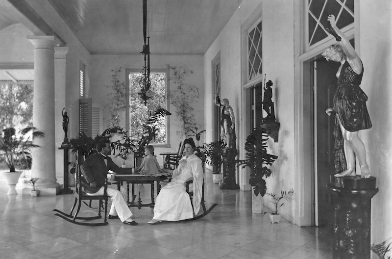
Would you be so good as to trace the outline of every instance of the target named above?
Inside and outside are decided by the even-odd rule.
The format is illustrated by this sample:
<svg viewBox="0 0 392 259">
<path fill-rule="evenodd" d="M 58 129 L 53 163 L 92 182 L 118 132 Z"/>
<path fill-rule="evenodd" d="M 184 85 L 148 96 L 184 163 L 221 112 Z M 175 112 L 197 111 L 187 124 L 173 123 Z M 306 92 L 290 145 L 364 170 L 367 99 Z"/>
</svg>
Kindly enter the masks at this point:
<svg viewBox="0 0 392 259">
<path fill-rule="evenodd" d="M 376 178 L 331 176 L 327 190 L 334 195 L 334 259 L 370 259 L 371 198 Z"/>
</svg>

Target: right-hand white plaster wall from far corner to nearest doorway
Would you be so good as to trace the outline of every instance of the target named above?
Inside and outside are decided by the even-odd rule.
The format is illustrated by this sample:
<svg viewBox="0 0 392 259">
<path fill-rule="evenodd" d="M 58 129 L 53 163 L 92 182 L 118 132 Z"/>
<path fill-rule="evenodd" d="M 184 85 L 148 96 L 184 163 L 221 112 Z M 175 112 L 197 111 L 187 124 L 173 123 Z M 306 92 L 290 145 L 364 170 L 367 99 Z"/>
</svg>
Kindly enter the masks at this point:
<svg viewBox="0 0 392 259">
<path fill-rule="evenodd" d="M 281 123 L 279 142 L 269 141 L 270 153 L 279 158 L 272 165 L 272 175 L 267 181 L 268 192 L 280 192 L 294 187 L 294 115 L 293 115 L 293 81 L 294 81 L 294 4 L 286 0 L 256 1 L 243 0 L 218 38 L 204 55 L 204 82 L 206 85 L 205 124 L 212 128 L 211 114 L 213 93 L 211 90 L 211 61 L 221 54 L 221 98 L 227 98 L 236 116 L 237 149 L 239 157 L 244 157 L 246 134 L 242 130 L 244 119 L 241 114 L 246 103 L 242 103 L 245 90 L 241 79 L 241 26 L 251 16 L 259 16 L 263 22 L 263 74 L 273 82 L 273 99 L 277 122 Z M 245 28 L 246 29 L 246 28 Z M 259 100 L 261 102 L 262 100 Z M 207 134 L 211 141 L 212 134 Z M 245 169 L 238 169 L 240 175 L 246 174 Z M 247 180 L 240 184 L 241 189 L 250 190 Z M 265 206 L 271 207 L 268 198 Z M 287 203 L 281 208 L 282 215 L 290 221 L 294 220 L 294 205 Z"/>
</svg>

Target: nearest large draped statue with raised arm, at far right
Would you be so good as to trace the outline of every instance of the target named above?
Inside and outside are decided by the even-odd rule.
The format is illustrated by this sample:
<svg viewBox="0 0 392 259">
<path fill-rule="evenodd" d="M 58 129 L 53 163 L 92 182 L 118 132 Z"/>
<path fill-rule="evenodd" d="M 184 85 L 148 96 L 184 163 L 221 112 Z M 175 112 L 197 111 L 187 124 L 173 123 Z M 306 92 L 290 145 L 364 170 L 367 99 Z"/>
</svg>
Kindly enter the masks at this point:
<svg viewBox="0 0 392 259">
<path fill-rule="evenodd" d="M 322 53 L 326 60 L 341 63 L 336 74 L 338 88 L 333 99 L 333 108 L 325 111 L 329 116 L 336 114 L 335 177 L 356 176 L 355 159 L 358 158 L 361 176 L 369 178 L 370 171 L 366 162 L 365 145 L 358 136 L 359 130 L 370 129 L 372 126 L 366 106 L 368 96 L 359 86 L 364 75 L 363 64 L 347 37 L 336 26 L 333 15 L 328 16 L 328 22 L 341 37 L 339 44 L 330 46 Z"/>
</svg>

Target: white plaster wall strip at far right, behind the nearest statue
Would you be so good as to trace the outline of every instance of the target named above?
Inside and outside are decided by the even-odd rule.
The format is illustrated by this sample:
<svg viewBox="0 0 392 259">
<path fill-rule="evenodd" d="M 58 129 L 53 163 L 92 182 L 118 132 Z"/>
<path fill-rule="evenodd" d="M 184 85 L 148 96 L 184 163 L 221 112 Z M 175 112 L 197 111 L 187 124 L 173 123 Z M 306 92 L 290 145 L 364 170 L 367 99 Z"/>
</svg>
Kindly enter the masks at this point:
<svg viewBox="0 0 392 259">
<path fill-rule="evenodd" d="M 359 43 L 364 64 L 361 88 L 368 95 L 368 112 L 373 127 L 360 137 L 367 149 L 378 194 L 372 199 L 371 243 L 392 237 L 392 3 L 390 0 L 360 1 Z M 372 258 L 377 258 L 372 253 Z"/>
</svg>

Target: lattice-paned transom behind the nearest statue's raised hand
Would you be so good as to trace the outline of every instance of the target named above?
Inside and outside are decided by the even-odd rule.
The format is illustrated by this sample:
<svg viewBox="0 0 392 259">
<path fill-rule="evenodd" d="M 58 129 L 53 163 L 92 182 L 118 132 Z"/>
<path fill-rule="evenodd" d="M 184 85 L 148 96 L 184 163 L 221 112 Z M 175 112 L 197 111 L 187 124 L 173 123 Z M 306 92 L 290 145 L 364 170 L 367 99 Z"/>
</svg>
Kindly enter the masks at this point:
<svg viewBox="0 0 392 259">
<path fill-rule="evenodd" d="M 328 15 L 335 16 L 336 26 L 340 29 L 354 24 L 354 0 L 306 0 L 306 3 L 307 49 L 329 36 L 324 29 Z"/>
</svg>

